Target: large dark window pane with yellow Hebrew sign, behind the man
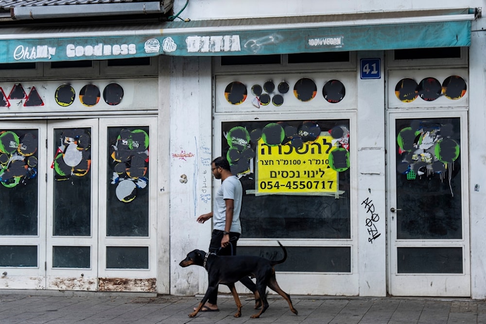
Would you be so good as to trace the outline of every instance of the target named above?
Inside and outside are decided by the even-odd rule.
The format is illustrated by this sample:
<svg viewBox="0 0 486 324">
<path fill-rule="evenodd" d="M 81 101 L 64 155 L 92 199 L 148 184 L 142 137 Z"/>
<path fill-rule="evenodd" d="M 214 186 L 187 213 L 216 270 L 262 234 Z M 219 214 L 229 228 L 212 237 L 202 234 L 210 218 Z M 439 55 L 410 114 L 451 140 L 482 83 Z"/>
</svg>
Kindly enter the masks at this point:
<svg viewBox="0 0 486 324">
<path fill-rule="evenodd" d="M 244 238 L 350 238 L 348 127 L 346 119 L 222 123 L 223 156 L 243 185 Z"/>
</svg>

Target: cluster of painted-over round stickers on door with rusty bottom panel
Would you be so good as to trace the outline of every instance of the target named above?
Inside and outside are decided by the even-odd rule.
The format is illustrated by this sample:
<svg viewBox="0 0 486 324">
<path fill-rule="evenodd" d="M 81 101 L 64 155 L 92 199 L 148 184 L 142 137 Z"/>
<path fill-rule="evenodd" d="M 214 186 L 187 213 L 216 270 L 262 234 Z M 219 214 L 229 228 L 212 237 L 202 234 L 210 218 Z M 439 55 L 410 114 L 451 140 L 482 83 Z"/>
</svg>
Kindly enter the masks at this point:
<svg viewBox="0 0 486 324">
<path fill-rule="evenodd" d="M 118 200 L 129 203 L 148 184 L 149 136 L 141 129 L 123 128 L 111 144 L 109 154 L 111 184 L 116 186 Z"/>
</svg>

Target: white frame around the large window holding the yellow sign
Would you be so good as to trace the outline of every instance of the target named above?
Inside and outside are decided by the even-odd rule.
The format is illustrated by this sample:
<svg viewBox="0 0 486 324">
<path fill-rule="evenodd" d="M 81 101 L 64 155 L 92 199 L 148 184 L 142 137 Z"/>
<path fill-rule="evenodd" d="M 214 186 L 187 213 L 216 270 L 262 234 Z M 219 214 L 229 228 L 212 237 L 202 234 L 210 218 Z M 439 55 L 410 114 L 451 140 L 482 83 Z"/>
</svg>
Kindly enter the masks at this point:
<svg viewBox="0 0 486 324">
<path fill-rule="evenodd" d="M 276 117 L 278 115 L 278 117 Z M 245 114 L 215 115 L 213 121 L 213 152 L 214 157 L 221 155 L 221 132 L 222 122 L 225 121 L 247 121 L 254 116 Z M 316 120 L 316 119 L 348 119 L 349 120 L 349 144 L 350 144 L 350 188 L 357 186 L 356 167 L 356 113 L 348 112 L 299 112 L 299 113 L 268 113 L 259 114 L 259 120 Z M 213 179 L 213 197 L 221 186 L 220 181 Z M 278 272 L 279 282 L 285 282 L 285 291 L 290 294 L 310 295 L 359 295 L 359 273 L 358 273 L 358 209 L 357 194 L 351 190 L 350 194 L 350 238 L 349 239 L 279 239 L 284 246 L 297 247 L 326 247 L 342 246 L 350 247 L 351 267 L 350 273 L 312 273 L 312 272 Z M 358 207 L 356 207 L 358 206 Z M 245 239 L 238 240 L 238 246 L 277 246 L 275 239 Z M 248 292 L 240 283 L 236 285 L 241 293 Z M 205 287 L 206 288 L 206 287 Z M 223 289 L 222 289 L 223 288 Z M 224 290 L 220 287 L 220 290 Z M 229 291 L 229 290 L 228 290 Z M 271 293 L 273 293 L 271 291 Z"/>
</svg>

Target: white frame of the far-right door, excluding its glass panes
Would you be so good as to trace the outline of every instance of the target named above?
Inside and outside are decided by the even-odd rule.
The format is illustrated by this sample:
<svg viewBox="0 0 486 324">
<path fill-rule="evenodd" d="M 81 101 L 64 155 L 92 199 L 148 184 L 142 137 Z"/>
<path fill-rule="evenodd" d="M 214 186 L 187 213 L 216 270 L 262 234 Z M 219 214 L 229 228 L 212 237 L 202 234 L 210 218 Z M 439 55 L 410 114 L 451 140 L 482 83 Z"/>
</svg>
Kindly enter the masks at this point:
<svg viewBox="0 0 486 324">
<path fill-rule="evenodd" d="M 396 163 L 395 119 L 460 118 L 461 122 L 461 193 L 462 193 L 462 239 L 397 239 L 396 213 Z M 469 247 L 469 152 L 468 152 L 468 112 L 467 109 L 388 110 L 387 121 L 387 221 L 388 221 L 388 292 L 395 296 L 470 296 L 470 247 Z M 398 273 L 397 247 L 461 247 L 463 249 L 463 273 Z"/>
</svg>

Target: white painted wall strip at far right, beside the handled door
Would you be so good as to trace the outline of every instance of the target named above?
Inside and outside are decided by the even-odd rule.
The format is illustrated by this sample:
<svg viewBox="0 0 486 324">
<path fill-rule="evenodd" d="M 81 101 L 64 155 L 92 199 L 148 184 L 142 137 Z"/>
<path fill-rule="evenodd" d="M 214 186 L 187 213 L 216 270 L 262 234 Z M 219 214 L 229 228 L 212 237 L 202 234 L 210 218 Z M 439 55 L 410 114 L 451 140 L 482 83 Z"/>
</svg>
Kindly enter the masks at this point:
<svg viewBox="0 0 486 324">
<path fill-rule="evenodd" d="M 471 297 L 486 298 L 486 18 L 473 22 L 469 48 Z"/>
</svg>

